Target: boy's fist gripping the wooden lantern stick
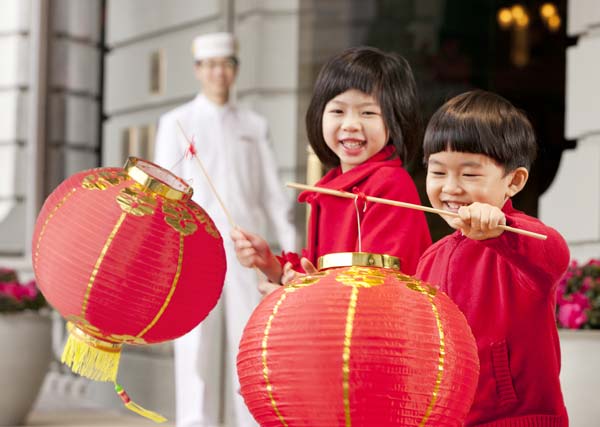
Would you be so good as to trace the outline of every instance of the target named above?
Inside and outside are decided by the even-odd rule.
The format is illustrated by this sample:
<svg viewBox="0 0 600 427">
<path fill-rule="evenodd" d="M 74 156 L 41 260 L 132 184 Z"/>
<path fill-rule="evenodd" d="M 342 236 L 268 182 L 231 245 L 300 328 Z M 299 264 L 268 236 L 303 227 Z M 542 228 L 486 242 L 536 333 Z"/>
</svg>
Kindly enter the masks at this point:
<svg viewBox="0 0 600 427">
<path fill-rule="evenodd" d="M 504 230 L 498 225 L 506 225 L 506 217 L 498 207 L 475 202 L 458 209 L 459 218 L 452 220 L 452 226 L 473 240 L 498 237 Z"/>
</svg>

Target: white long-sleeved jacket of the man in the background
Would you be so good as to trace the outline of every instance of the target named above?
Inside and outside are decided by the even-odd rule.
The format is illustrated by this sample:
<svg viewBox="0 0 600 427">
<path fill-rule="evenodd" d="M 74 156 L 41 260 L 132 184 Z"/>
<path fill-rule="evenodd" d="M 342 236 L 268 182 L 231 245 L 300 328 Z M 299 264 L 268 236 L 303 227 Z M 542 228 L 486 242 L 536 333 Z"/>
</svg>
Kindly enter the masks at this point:
<svg viewBox="0 0 600 427">
<path fill-rule="evenodd" d="M 197 161 L 184 158 L 188 144 L 177 121 L 193 138 L 197 155 L 233 221 L 263 236 L 274 231 L 283 249 L 294 250 L 290 202 L 277 176 L 266 121 L 247 109 L 218 106 L 203 95 L 161 117 L 155 162 L 193 186 L 193 200 L 215 221 L 225 241 L 229 241 L 231 227 Z"/>
</svg>

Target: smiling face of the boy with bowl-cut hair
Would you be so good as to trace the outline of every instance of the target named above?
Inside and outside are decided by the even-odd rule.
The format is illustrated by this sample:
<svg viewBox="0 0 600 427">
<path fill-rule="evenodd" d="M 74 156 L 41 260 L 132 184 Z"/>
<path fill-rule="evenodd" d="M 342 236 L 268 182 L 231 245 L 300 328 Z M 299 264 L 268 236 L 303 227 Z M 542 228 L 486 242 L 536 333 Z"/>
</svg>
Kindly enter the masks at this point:
<svg viewBox="0 0 600 427">
<path fill-rule="evenodd" d="M 427 196 L 431 206 L 457 212 L 471 203 L 487 203 L 502 208 L 527 181 L 525 168 L 505 173 L 494 159 L 474 153 L 440 151 L 429 156 Z M 452 218 L 443 216 L 452 226 Z"/>
</svg>

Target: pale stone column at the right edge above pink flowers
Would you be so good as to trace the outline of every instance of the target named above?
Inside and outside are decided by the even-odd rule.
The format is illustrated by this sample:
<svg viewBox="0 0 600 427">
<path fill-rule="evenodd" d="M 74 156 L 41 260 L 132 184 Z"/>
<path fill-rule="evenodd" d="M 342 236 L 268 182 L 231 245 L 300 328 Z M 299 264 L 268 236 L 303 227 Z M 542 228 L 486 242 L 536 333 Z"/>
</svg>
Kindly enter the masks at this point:
<svg viewBox="0 0 600 427">
<path fill-rule="evenodd" d="M 577 140 L 563 153 L 552 186 L 540 198 L 540 219 L 559 230 L 573 259 L 600 257 L 600 7 L 569 0 L 565 136 Z"/>
</svg>

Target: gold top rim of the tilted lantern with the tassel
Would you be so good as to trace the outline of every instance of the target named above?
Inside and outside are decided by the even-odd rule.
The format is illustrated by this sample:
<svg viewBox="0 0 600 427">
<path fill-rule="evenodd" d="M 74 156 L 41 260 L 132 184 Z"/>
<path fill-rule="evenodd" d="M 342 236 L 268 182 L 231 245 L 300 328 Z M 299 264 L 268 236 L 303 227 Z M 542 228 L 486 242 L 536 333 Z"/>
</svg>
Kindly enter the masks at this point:
<svg viewBox="0 0 600 427">
<path fill-rule="evenodd" d="M 123 169 L 138 184 L 167 199 L 189 200 L 192 197 L 191 186 L 154 163 L 129 157 Z"/>
</svg>

